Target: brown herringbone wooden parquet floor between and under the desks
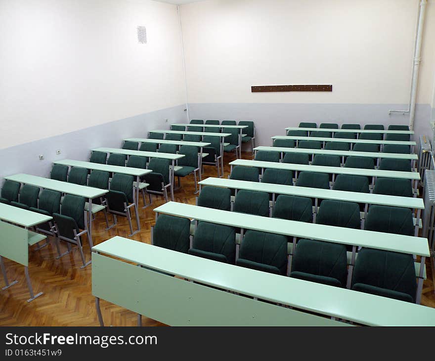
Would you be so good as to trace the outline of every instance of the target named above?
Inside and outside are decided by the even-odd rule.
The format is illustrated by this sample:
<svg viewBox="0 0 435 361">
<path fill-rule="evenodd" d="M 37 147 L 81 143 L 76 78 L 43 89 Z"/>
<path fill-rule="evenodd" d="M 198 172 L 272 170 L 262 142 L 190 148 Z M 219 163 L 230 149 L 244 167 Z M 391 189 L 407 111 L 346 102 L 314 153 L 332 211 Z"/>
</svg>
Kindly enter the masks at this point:
<svg viewBox="0 0 435 361">
<path fill-rule="evenodd" d="M 251 153 L 243 152 L 244 159 L 251 158 Z M 229 175 L 228 162 L 234 156 L 225 154 L 225 174 Z M 216 177 L 216 168 L 206 166 L 203 179 Z M 181 188 L 174 192 L 175 201 L 195 204 L 193 176 L 181 180 Z M 150 243 L 150 227 L 155 224 L 153 209 L 164 203 L 161 196 L 152 196 L 151 206 L 139 209 L 141 231 L 131 238 L 140 242 Z M 143 206 L 140 198 L 140 206 Z M 101 212 L 100 212 L 101 213 Z M 133 219 L 133 226 L 135 225 Z M 118 226 L 105 230 L 103 214 L 97 214 L 93 225 L 94 244 L 101 243 L 115 235 L 128 237 L 128 222 L 118 217 Z M 87 260 L 90 250 L 86 237 L 83 240 Z M 62 244 L 62 250 L 66 248 Z M 73 252 L 56 260 L 56 248 L 51 242 L 47 247 L 36 251 L 34 247 L 30 252 L 29 272 L 34 292 L 44 292 L 44 295 L 27 303 L 29 292 L 24 276 L 24 268 L 12 261 L 4 259 L 9 282 L 18 280 L 18 283 L 7 290 L 0 290 L 0 325 L 1 326 L 98 326 L 95 311 L 95 299 L 91 292 L 91 267 L 81 269 L 82 265 L 77 247 Z M 424 283 L 422 305 L 435 307 L 434 280 L 430 260 L 426 263 L 428 278 Z M 4 285 L 1 277 L 0 286 Z M 101 312 L 106 325 L 134 326 L 136 314 L 122 307 L 113 305 L 104 300 L 100 302 Z M 142 324 L 146 326 L 159 326 L 162 323 L 153 319 L 142 317 Z"/>
</svg>

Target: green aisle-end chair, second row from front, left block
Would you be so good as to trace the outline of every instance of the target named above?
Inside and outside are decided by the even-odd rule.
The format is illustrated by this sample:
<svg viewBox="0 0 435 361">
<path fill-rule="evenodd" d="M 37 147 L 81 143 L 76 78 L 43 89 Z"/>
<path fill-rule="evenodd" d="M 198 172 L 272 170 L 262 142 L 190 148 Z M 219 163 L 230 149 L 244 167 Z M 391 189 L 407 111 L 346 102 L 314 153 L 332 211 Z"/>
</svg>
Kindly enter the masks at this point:
<svg viewBox="0 0 435 361">
<path fill-rule="evenodd" d="M 110 182 L 110 190 L 106 194 L 107 210 L 113 215 L 113 225 L 108 227 L 112 228 L 117 225 L 117 216 L 127 217 L 130 226 L 130 234 L 139 231 L 139 220 L 137 219 L 137 230 L 133 232 L 133 226 L 131 224 L 131 212 L 130 209 L 135 207 L 133 199 L 133 181 L 134 177 L 128 174 L 115 173 L 112 181 Z"/>
</svg>

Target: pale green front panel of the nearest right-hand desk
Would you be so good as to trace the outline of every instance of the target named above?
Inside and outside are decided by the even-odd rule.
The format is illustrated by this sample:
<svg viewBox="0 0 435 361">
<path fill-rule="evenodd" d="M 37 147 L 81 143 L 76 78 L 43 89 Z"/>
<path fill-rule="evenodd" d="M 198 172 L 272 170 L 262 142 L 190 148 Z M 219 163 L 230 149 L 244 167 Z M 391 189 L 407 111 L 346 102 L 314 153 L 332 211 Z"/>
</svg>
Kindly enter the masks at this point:
<svg viewBox="0 0 435 361">
<path fill-rule="evenodd" d="M 92 253 L 92 294 L 174 326 L 346 326 Z"/>
</svg>

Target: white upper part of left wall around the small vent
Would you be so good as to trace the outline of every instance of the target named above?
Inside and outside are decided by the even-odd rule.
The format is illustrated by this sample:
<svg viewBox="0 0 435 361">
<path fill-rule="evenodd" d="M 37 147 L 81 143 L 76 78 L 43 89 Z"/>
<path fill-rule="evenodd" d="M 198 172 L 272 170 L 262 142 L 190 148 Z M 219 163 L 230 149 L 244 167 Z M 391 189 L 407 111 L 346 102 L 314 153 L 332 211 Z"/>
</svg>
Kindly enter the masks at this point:
<svg viewBox="0 0 435 361">
<path fill-rule="evenodd" d="M 175 5 L 0 0 L 0 34 L 0 148 L 186 102 Z"/>
</svg>

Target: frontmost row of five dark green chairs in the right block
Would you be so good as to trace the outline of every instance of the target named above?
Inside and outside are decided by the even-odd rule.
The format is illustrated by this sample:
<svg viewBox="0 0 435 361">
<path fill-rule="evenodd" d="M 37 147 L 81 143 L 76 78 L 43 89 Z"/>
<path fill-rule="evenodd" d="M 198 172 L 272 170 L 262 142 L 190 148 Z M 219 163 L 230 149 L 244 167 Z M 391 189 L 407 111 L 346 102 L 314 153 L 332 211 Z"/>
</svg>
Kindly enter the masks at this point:
<svg viewBox="0 0 435 361">
<path fill-rule="evenodd" d="M 290 262 L 288 238 L 284 235 L 248 229 L 237 256 L 235 228 L 200 222 L 193 239 L 189 229 L 190 221 L 186 218 L 160 215 L 151 230 L 152 244 L 257 271 L 337 287 L 347 285 L 347 251 L 342 244 L 299 239 Z M 350 288 L 415 302 L 417 285 L 412 255 L 365 248 L 359 250 Z"/>
</svg>

